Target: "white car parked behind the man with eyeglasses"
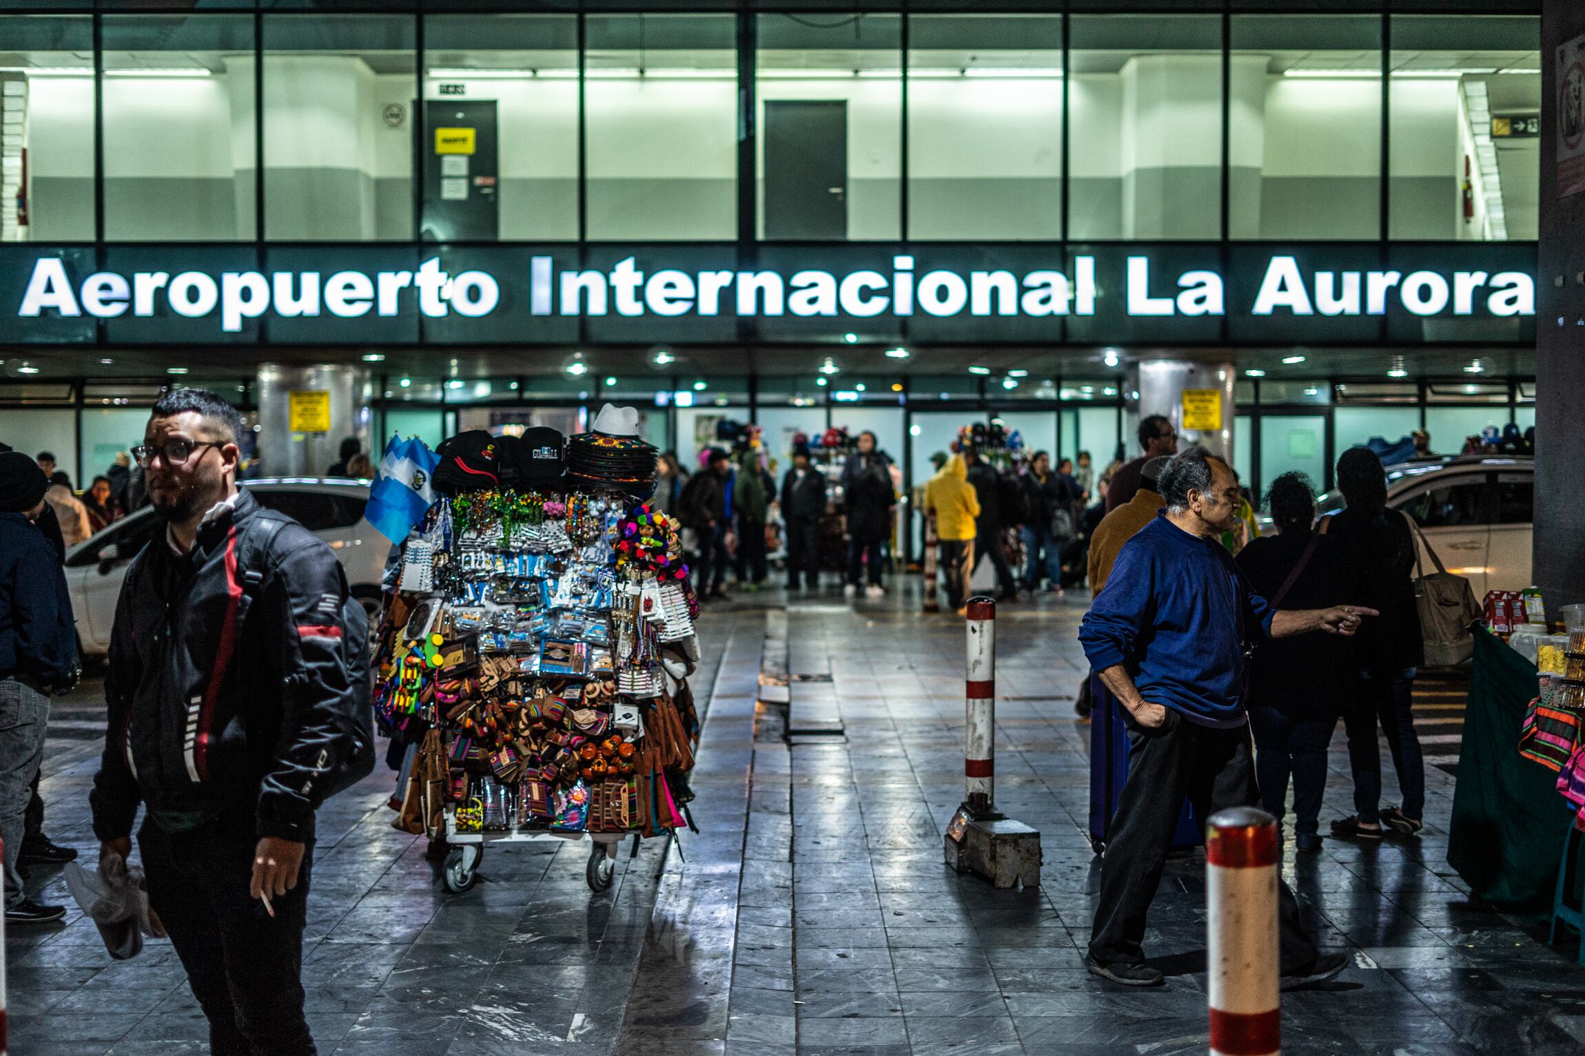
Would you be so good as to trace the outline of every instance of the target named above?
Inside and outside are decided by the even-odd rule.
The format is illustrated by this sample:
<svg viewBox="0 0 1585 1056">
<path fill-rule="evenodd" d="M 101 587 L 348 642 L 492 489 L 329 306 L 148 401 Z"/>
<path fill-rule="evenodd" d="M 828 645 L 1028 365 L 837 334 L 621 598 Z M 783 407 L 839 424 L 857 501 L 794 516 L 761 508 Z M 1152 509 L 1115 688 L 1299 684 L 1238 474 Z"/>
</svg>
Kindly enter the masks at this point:
<svg viewBox="0 0 1585 1056">
<path fill-rule="evenodd" d="M 260 505 L 296 518 L 330 543 L 347 570 L 352 595 L 371 617 L 379 611 L 380 573 L 390 540 L 363 519 L 363 507 L 369 500 L 368 481 L 279 477 L 247 480 L 243 486 Z M 67 591 L 84 655 L 109 651 L 120 581 L 158 526 L 154 510 L 144 507 L 67 551 Z"/>
</svg>

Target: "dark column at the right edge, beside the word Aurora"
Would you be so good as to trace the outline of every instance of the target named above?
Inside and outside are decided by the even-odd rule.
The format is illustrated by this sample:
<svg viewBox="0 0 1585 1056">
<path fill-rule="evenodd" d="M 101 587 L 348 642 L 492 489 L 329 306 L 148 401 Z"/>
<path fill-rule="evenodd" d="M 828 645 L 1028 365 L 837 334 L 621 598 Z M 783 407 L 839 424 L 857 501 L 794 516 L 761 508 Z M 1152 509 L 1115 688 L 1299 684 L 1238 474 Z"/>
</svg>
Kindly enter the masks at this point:
<svg viewBox="0 0 1585 1056">
<path fill-rule="evenodd" d="M 1585 6 L 1541 14 L 1541 237 L 1536 306 L 1536 530 L 1533 568 L 1547 611 L 1585 602 L 1585 193 L 1558 198 L 1556 49 L 1585 33 Z"/>
</svg>

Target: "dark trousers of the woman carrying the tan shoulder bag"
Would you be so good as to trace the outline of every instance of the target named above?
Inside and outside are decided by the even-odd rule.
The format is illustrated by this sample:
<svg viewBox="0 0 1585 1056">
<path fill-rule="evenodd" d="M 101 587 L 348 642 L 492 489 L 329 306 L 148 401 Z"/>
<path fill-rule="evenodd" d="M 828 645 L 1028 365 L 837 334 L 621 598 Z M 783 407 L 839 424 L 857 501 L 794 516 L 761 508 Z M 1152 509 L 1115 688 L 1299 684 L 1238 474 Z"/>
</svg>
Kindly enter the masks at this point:
<svg viewBox="0 0 1585 1056">
<path fill-rule="evenodd" d="M 1354 771 L 1354 809 L 1365 825 L 1381 822 L 1382 757 L 1376 741 L 1376 724 L 1387 735 L 1403 812 L 1415 820 L 1425 817 L 1425 760 L 1420 735 L 1414 731 L 1415 668 L 1401 671 L 1360 671 L 1354 706 L 1342 712 L 1342 728 L 1349 735 L 1349 769 Z"/>
</svg>

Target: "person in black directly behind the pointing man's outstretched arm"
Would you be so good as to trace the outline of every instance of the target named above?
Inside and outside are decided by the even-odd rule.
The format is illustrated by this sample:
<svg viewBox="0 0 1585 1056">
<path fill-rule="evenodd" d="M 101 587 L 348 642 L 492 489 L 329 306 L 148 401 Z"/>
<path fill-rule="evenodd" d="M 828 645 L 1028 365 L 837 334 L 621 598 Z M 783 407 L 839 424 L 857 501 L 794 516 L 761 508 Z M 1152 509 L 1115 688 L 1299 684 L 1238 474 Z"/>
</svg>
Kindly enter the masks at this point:
<svg viewBox="0 0 1585 1056">
<path fill-rule="evenodd" d="M 1278 477 L 1266 494 L 1266 508 L 1279 534 L 1251 541 L 1236 557 L 1255 592 L 1284 608 L 1328 608 L 1358 600 L 1354 565 L 1342 548 L 1312 530 L 1316 499 L 1309 478 Z M 1293 776 L 1300 850 L 1320 849 L 1327 746 L 1338 725 L 1338 705 L 1349 690 L 1349 668 L 1346 640 L 1311 632 L 1262 641 L 1249 670 L 1249 725 L 1255 735 L 1260 800 L 1281 822 L 1289 774 Z"/>
</svg>

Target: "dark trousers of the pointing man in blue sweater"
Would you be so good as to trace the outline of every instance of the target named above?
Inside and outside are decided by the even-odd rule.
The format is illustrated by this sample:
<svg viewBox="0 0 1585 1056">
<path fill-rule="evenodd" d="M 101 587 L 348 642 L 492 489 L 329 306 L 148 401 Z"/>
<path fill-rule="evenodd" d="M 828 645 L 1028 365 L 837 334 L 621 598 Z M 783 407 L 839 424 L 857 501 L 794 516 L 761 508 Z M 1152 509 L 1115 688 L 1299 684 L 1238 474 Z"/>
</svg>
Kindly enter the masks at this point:
<svg viewBox="0 0 1585 1056">
<path fill-rule="evenodd" d="M 1129 741 L 1129 779 L 1111 819 L 1089 945 L 1102 964 L 1144 961 L 1144 920 L 1162 882 L 1184 795 L 1198 819 L 1260 803 L 1247 727 L 1213 730 L 1168 708 L 1155 730 L 1140 728 L 1130 717 Z M 1278 931 L 1282 972 L 1308 969 L 1317 956 L 1316 940 L 1298 920 L 1293 891 L 1281 880 Z"/>
</svg>

